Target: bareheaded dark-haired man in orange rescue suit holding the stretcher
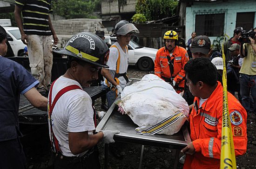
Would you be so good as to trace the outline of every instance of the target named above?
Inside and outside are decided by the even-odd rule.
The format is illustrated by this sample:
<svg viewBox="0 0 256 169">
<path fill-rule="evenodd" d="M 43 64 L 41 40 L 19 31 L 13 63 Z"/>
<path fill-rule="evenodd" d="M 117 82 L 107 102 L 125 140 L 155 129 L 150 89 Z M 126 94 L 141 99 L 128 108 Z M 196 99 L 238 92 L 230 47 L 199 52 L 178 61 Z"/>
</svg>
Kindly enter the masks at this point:
<svg viewBox="0 0 256 169">
<path fill-rule="evenodd" d="M 222 136 L 223 87 L 216 80 L 216 68 L 208 58 L 195 58 L 184 67 L 187 85 L 195 96 L 189 115 L 190 142 L 183 169 L 219 169 Z M 228 92 L 229 117 L 236 156 L 247 148 L 247 113 L 239 101 Z"/>
</svg>

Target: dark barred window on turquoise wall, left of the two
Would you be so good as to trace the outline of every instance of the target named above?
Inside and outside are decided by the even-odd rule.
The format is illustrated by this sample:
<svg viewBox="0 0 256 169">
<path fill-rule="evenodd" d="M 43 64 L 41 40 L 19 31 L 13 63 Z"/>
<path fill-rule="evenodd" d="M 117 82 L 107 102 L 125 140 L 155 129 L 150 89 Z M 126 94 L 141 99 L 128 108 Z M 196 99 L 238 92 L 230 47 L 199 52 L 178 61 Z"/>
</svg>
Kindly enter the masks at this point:
<svg viewBox="0 0 256 169">
<path fill-rule="evenodd" d="M 223 36 L 225 13 L 195 15 L 196 35 Z"/>
</svg>

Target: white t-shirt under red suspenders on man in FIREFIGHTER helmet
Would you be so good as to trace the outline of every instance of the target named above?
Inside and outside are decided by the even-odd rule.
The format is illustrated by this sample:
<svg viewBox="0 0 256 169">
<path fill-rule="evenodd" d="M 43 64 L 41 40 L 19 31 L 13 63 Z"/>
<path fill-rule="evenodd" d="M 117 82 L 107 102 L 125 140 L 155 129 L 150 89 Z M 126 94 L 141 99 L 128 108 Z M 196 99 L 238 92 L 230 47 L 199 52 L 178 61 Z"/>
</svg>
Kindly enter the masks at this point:
<svg viewBox="0 0 256 169">
<path fill-rule="evenodd" d="M 56 94 L 66 86 L 76 84 L 81 85 L 70 78 L 61 76 L 56 80 L 52 91 L 52 102 Z M 52 112 L 53 131 L 56 136 L 61 153 L 64 156 L 82 156 L 73 155 L 68 145 L 68 132 L 88 131 L 88 134 L 93 134 L 94 126 L 94 111 L 92 108 L 92 100 L 87 92 L 81 89 L 75 89 L 64 93 L 54 106 Z M 49 129 L 50 123 L 48 120 Z"/>
</svg>

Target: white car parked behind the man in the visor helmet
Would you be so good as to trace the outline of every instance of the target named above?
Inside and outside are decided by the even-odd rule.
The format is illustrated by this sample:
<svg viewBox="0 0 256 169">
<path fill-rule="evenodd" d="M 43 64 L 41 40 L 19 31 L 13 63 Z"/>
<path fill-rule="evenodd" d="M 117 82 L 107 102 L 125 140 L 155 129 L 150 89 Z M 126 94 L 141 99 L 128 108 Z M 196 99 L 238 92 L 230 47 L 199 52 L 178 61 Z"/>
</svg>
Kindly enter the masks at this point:
<svg viewBox="0 0 256 169">
<path fill-rule="evenodd" d="M 116 37 L 106 36 L 104 41 L 109 44 L 114 44 L 116 42 Z M 128 50 L 129 65 L 137 65 L 141 71 L 150 71 L 154 69 L 157 49 L 143 47 L 131 40 L 128 45 Z"/>
</svg>

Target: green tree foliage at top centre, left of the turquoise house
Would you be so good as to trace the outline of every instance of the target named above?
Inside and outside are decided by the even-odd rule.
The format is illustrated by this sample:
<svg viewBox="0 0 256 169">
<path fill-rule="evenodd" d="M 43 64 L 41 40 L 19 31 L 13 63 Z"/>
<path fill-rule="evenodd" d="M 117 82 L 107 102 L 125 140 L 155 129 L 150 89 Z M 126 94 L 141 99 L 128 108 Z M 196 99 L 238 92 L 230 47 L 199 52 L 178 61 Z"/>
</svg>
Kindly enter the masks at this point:
<svg viewBox="0 0 256 169">
<path fill-rule="evenodd" d="M 159 20 L 175 14 L 177 0 L 138 0 L 136 13 L 142 13 L 147 20 Z"/>
</svg>

